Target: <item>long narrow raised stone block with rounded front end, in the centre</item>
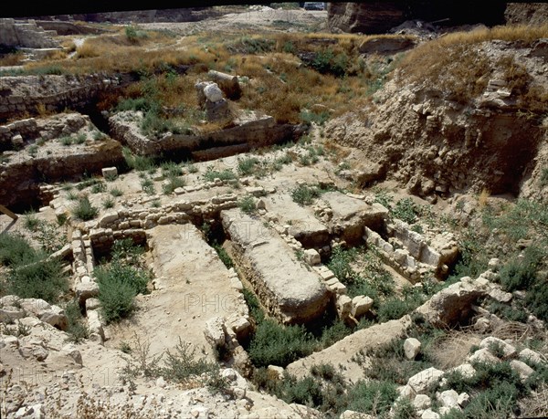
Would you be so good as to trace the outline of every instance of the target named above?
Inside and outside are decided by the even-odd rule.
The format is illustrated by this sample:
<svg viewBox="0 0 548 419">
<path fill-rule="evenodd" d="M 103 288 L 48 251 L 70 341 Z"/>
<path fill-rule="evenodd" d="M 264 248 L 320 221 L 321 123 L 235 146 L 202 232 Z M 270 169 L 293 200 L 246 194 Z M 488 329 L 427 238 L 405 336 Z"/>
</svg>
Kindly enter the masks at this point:
<svg viewBox="0 0 548 419">
<path fill-rule="evenodd" d="M 221 211 L 238 265 L 269 313 L 284 323 L 304 323 L 327 308 L 321 277 L 300 263 L 285 240 L 262 220 L 239 209 Z M 268 233 L 268 234 L 267 234 Z"/>
</svg>

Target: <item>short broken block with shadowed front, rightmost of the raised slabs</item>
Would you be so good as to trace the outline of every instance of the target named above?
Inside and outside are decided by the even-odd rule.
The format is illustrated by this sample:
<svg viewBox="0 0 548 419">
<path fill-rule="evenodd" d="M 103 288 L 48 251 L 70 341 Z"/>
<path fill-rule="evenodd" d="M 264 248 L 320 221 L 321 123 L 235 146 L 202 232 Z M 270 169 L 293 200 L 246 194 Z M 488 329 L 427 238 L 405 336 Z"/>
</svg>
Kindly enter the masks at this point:
<svg viewBox="0 0 548 419">
<path fill-rule="evenodd" d="M 379 231 L 388 217 L 388 210 L 383 205 L 370 205 L 340 192 L 322 194 L 321 200 L 332 209 L 330 233 L 341 236 L 349 244 L 363 240 L 364 226 Z"/>
</svg>

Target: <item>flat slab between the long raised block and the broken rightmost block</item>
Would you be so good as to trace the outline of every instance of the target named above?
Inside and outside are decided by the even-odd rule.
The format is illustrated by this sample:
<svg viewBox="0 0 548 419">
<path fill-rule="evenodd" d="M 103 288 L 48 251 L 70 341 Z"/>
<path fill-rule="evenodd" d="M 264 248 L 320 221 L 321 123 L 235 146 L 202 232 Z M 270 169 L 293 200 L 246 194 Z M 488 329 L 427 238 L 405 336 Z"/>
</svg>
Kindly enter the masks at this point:
<svg viewBox="0 0 548 419">
<path fill-rule="evenodd" d="M 290 225 L 289 234 L 305 248 L 320 248 L 329 244 L 329 232 L 314 215 L 311 207 L 300 206 L 289 194 L 263 198 L 269 214 L 278 217 L 279 224 Z"/>
</svg>

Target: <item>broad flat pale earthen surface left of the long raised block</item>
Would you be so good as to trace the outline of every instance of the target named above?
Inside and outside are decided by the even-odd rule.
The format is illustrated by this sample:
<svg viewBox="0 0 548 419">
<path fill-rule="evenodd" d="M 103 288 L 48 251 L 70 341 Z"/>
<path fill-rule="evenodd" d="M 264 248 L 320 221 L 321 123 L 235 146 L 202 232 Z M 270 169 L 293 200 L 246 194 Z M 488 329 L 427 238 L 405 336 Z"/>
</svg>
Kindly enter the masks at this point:
<svg viewBox="0 0 548 419">
<path fill-rule="evenodd" d="M 134 333 L 147 330 L 151 355 L 173 351 L 181 338 L 196 353 L 204 348 L 207 358 L 214 360 L 204 333 L 207 322 L 248 315 L 230 272 L 195 225 L 158 225 L 147 231 L 147 244 L 160 289 L 135 299 L 138 309 L 131 322 L 109 326 L 111 344 L 132 341 Z M 214 340 L 220 341 L 218 334 Z"/>
</svg>

